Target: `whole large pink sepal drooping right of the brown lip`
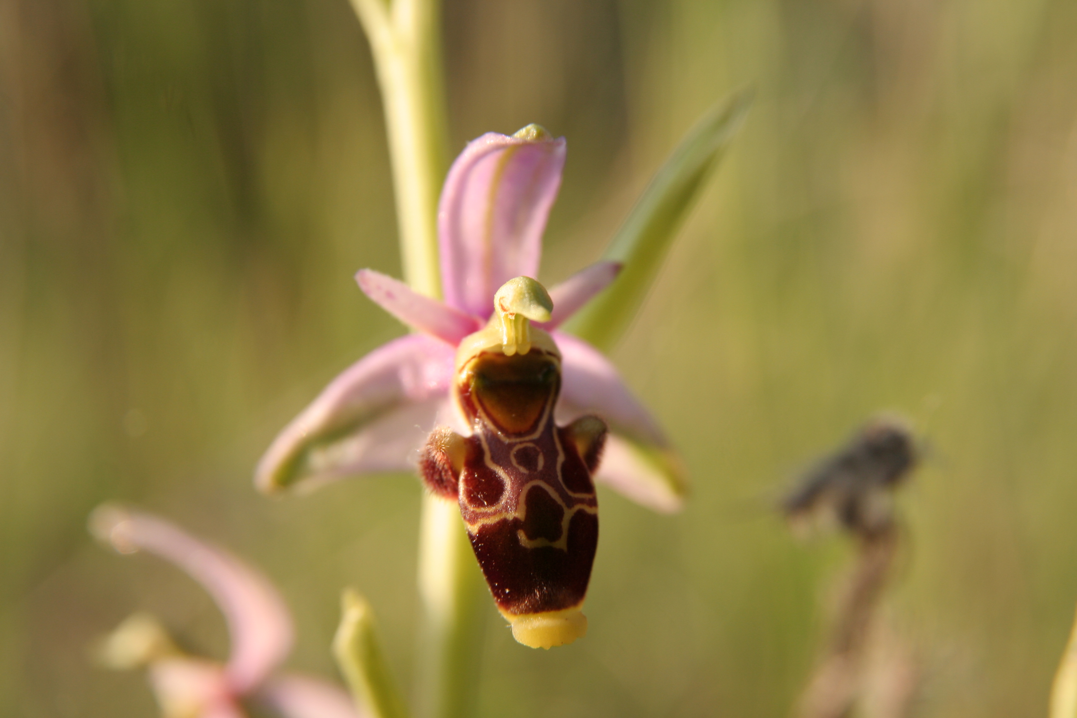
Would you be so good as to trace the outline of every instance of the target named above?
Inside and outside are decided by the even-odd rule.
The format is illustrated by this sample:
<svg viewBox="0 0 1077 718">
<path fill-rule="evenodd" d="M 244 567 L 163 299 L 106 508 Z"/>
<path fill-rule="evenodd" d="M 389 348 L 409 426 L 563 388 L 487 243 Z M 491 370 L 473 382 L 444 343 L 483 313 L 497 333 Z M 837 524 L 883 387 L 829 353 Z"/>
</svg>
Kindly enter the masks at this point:
<svg viewBox="0 0 1077 718">
<path fill-rule="evenodd" d="M 582 339 L 560 332 L 554 339 L 562 371 L 558 423 L 593 413 L 610 425 L 596 480 L 656 511 L 680 509 L 685 493 L 681 462 L 617 369 Z"/>
</svg>

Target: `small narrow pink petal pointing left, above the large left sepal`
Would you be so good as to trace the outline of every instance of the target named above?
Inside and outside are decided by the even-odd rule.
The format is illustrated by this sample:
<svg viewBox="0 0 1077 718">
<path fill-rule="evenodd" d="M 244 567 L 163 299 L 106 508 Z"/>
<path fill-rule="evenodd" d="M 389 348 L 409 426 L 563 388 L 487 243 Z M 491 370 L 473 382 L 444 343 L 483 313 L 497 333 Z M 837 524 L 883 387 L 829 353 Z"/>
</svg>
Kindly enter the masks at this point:
<svg viewBox="0 0 1077 718">
<path fill-rule="evenodd" d="M 404 282 L 373 269 L 360 269 L 355 274 L 359 288 L 387 312 L 410 327 L 459 344 L 468 334 L 482 328 L 482 323 L 437 299 L 431 299 Z"/>
</svg>

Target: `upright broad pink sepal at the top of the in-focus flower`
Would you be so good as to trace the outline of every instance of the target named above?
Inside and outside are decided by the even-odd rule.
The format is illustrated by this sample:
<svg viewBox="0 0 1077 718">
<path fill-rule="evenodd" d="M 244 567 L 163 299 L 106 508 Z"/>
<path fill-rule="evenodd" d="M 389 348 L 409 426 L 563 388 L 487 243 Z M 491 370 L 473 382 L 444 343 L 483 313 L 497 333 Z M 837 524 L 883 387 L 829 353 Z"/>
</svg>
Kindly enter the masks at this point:
<svg viewBox="0 0 1077 718">
<path fill-rule="evenodd" d="M 564 138 L 487 132 L 467 144 L 437 209 L 447 304 L 486 319 L 498 287 L 535 277 L 563 167 Z"/>
</svg>

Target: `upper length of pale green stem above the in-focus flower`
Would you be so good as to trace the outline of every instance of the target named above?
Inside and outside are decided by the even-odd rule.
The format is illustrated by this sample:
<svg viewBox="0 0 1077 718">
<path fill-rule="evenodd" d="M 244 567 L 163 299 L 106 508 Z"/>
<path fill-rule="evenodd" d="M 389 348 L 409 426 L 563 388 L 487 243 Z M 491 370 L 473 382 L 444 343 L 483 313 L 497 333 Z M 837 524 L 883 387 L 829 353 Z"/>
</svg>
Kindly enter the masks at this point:
<svg viewBox="0 0 1077 718">
<path fill-rule="evenodd" d="M 437 198 L 448 168 L 440 0 L 351 0 L 370 41 L 392 161 L 404 279 L 442 293 Z"/>
</svg>

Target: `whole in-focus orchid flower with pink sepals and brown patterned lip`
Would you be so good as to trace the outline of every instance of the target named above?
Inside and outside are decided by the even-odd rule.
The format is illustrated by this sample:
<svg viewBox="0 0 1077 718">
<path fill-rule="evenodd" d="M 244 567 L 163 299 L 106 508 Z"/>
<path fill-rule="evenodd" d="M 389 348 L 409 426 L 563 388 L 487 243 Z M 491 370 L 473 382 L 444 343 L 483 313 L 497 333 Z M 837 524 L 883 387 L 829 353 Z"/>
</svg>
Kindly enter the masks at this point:
<svg viewBox="0 0 1077 718">
<path fill-rule="evenodd" d="M 275 491 L 418 464 L 433 493 L 459 499 L 498 608 L 536 648 L 586 632 L 592 478 L 659 511 L 683 493 L 665 435 L 614 366 L 558 330 L 620 265 L 600 262 L 548 293 L 533 279 L 564 153 L 564 138 L 537 125 L 464 149 L 438 206 L 445 300 L 360 270 L 360 288 L 416 334 L 333 381 L 256 474 Z"/>
</svg>

